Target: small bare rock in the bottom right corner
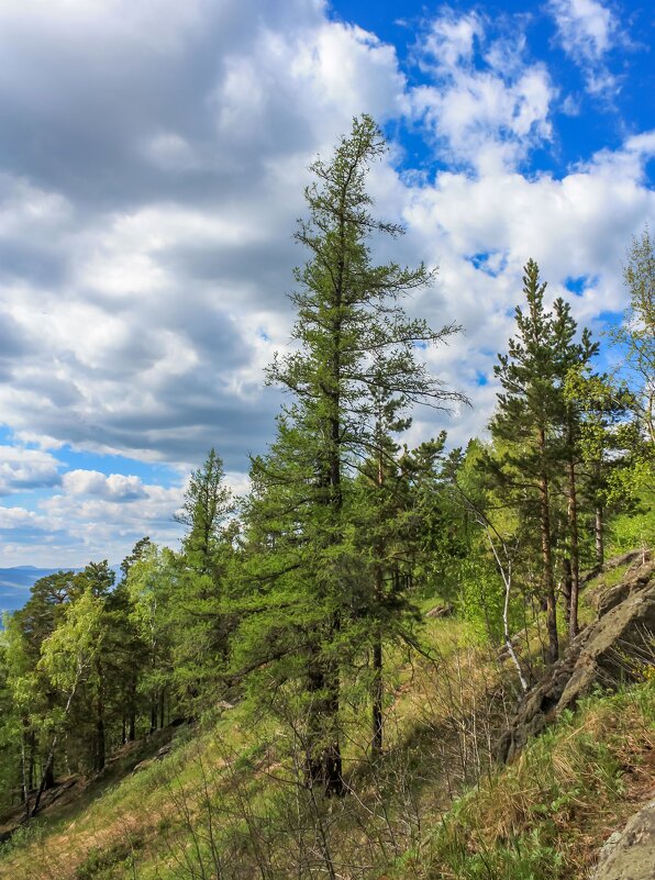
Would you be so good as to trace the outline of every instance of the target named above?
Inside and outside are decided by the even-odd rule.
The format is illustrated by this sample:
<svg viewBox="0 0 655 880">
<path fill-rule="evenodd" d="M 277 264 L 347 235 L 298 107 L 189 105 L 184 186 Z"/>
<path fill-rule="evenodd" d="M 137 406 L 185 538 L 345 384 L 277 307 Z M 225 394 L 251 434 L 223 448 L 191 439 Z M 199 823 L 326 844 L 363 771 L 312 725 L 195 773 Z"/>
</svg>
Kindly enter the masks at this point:
<svg viewBox="0 0 655 880">
<path fill-rule="evenodd" d="M 590 880 L 653 880 L 655 878 L 655 800 L 615 832 L 600 850 Z"/>
</svg>

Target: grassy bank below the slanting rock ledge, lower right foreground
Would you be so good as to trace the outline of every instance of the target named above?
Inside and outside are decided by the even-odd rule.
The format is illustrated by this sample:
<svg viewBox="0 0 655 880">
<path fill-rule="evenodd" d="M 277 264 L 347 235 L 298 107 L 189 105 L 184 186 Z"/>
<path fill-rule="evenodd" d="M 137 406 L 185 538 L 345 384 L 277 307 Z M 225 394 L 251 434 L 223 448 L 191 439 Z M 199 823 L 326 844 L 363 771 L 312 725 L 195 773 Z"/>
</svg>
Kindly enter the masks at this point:
<svg viewBox="0 0 655 880">
<path fill-rule="evenodd" d="M 647 788 L 654 747 L 654 681 L 586 700 L 454 805 L 423 846 L 422 876 L 584 877 L 598 846 L 633 811 L 640 781 Z"/>
</svg>

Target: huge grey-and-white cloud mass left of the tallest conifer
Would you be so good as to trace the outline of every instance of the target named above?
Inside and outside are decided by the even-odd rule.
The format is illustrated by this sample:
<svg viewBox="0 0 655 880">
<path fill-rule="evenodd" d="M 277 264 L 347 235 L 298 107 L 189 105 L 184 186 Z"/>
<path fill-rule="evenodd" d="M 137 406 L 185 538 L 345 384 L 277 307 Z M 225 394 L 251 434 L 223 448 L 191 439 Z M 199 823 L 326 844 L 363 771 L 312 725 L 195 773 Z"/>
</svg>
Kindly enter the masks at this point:
<svg viewBox="0 0 655 880">
<path fill-rule="evenodd" d="M 288 342 L 303 169 L 354 113 L 400 112 L 395 51 L 315 0 L 31 0 L 0 4 L 0 52 L 3 417 L 245 467 L 278 405 L 262 367 Z"/>
</svg>

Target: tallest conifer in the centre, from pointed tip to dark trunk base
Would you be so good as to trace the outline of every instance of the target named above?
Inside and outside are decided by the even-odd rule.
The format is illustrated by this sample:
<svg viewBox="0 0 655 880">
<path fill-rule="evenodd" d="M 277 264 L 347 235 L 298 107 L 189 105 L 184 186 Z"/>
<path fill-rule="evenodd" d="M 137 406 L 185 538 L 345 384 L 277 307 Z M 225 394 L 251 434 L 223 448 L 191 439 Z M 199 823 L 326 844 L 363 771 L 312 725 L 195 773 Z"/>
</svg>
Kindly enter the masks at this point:
<svg viewBox="0 0 655 880">
<path fill-rule="evenodd" d="M 409 319 L 401 304 L 432 275 L 424 266 L 370 260 L 371 234 L 401 232 L 373 216 L 365 187 L 370 164 L 385 151 L 380 131 L 364 115 L 330 163 L 311 166 L 317 180 L 306 190 L 309 218 L 296 235 L 310 252 L 291 298 L 296 350 L 269 370 L 293 402 L 278 420 L 269 455 L 253 463 L 248 509 L 253 548 L 275 554 L 257 572 L 268 613 L 248 625 L 259 638 L 267 630 L 268 657 L 286 657 L 287 673 L 291 667 L 303 672 L 308 775 L 323 780 L 328 792 L 342 790 L 341 668 L 354 649 L 349 626 L 362 593 L 363 572 L 347 541 L 352 475 L 382 449 L 376 443 L 380 393 L 400 396 L 404 404 L 460 399 L 415 358 L 417 343 L 443 341 L 456 327 L 435 332 Z M 290 664 L 289 657 L 297 659 Z"/>
</svg>

